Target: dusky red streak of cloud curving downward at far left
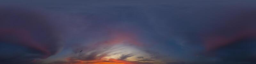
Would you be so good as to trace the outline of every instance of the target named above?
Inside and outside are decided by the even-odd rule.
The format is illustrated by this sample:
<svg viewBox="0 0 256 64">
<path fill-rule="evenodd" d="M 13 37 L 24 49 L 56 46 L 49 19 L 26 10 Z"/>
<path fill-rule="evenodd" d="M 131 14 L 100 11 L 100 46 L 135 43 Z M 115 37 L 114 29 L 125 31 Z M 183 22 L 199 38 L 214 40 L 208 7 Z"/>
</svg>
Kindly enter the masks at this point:
<svg viewBox="0 0 256 64">
<path fill-rule="evenodd" d="M 46 46 L 36 42 L 30 33 L 21 29 L 0 29 L 1 41 L 26 46 L 43 53 L 42 58 L 49 57 L 52 53 L 47 50 Z"/>
</svg>

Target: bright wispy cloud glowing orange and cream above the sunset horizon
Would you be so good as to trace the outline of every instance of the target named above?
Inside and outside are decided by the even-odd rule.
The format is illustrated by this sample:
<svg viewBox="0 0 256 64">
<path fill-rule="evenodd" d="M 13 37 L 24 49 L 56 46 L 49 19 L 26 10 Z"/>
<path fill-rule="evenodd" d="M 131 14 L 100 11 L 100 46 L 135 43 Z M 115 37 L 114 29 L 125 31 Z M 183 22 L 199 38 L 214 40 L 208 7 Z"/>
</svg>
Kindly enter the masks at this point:
<svg viewBox="0 0 256 64">
<path fill-rule="evenodd" d="M 145 59 L 138 60 L 137 57 L 141 55 L 151 55 L 156 52 L 143 52 L 140 49 L 141 43 L 135 40 L 130 41 L 127 35 L 120 35 L 124 33 L 116 33 L 118 38 L 111 37 L 107 41 L 100 41 L 99 43 L 90 43 L 86 46 L 76 46 L 73 49 L 75 54 L 69 55 L 64 61 L 54 61 L 54 63 L 85 63 L 85 64 L 100 64 L 100 63 L 117 63 L 117 64 L 144 64 L 154 63 L 150 57 L 144 56 Z M 121 40 L 120 40 L 121 39 Z M 113 41 L 114 40 L 114 41 Z M 120 40 L 120 41 L 119 41 Z M 136 43 L 130 43 L 136 42 Z M 138 45 L 139 43 L 139 45 Z M 79 52 L 83 50 L 82 52 Z M 151 62 L 152 61 L 152 62 Z M 156 61 L 157 62 L 157 61 Z"/>
</svg>

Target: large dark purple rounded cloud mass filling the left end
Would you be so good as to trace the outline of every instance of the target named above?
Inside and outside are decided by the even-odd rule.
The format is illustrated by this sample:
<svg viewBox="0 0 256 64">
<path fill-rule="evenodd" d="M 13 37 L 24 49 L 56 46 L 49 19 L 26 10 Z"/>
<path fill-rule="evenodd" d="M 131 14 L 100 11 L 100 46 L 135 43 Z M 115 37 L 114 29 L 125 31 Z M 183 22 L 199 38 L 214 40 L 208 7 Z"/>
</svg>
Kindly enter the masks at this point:
<svg viewBox="0 0 256 64">
<path fill-rule="evenodd" d="M 0 13 L 1 63 L 45 59 L 60 49 L 58 34 L 43 13 L 4 6 Z"/>
</svg>

